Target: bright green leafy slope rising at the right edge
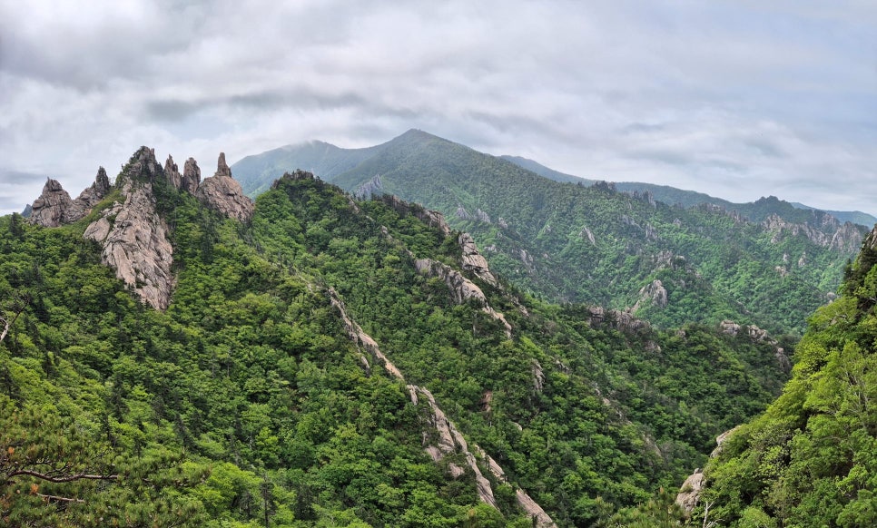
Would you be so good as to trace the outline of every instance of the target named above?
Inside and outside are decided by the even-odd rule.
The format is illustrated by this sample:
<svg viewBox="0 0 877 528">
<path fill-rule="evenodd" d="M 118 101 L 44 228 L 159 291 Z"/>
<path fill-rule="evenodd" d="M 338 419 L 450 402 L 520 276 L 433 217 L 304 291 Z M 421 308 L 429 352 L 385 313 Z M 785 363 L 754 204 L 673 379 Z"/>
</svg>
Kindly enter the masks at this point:
<svg viewBox="0 0 877 528">
<path fill-rule="evenodd" d="M 810 319 L 783 396 L 706 467 L 705 523 L 877 525 L 877 230 L 842 290 Z"/>
</svg>

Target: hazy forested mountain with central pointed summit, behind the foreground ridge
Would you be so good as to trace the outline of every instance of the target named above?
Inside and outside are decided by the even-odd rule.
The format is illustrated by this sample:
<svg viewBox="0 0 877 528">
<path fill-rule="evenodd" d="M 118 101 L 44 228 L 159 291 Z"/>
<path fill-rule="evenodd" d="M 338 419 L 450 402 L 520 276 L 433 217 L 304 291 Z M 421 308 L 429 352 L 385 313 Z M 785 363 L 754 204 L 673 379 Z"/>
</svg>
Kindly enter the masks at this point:
<svg viewBox="0 0 877 528">
<path fill-rule="evenodd" d="M 800 335 L 813 309 L 833 296 L 866 232 L 791 206 L 818 221 L 768 215 L 754 222 L 607 184 L 550 181 L 420 131 L 326 178 L 348 191 L 395 194 L 442 211 L 527 293 L 631 308 L 663 328 L 729 318 Z"/>
</svg>

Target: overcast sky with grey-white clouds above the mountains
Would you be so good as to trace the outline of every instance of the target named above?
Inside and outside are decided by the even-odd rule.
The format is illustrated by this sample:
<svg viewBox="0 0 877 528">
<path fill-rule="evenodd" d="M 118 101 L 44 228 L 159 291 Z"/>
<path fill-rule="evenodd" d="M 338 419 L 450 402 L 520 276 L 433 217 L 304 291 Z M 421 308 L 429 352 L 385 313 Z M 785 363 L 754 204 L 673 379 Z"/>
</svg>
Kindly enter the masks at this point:
<svg viewBox="0 0 877 528">
<path fill-rule="evenodd" d="M 204 175 L 410 128 L 558 171 L 877 214 L 877 2 L 0 0 L 0 213 L 141 145 Z"/>
</svg>

